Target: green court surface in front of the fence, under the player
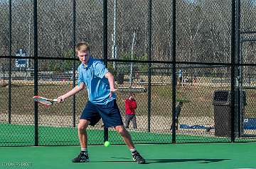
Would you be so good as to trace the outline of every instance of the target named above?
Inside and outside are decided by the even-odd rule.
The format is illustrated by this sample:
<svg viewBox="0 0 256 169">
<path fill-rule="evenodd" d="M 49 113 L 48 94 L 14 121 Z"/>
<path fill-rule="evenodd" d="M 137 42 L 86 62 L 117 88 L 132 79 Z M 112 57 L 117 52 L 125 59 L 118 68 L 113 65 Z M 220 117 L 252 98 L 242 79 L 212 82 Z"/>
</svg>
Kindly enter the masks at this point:
<svg viewBox="0 0 256 169">
<path fill-rule="evenodd" d="M 256 144 L 137 145 L 146 164 L 126 146 L 89 146 L 90 163 L 72 163 L 79 146 L 0 148 L 0 168 L 256 168 Z"/>
</svg>

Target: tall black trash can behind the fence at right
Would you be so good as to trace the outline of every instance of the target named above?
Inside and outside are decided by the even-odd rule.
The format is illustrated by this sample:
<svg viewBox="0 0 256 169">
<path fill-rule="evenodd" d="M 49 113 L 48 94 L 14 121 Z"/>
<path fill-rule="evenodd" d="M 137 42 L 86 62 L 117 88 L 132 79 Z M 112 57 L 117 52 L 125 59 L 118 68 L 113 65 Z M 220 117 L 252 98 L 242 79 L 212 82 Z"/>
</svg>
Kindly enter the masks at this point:
<svg viewBox="0 0 256 169">
<path fill-rule="evenodd" d="M 237 96 L 237 95 L 235 95 Z M 246 105 L 245 91 L 242 91 L 242 102 Z M 238 97 L 235 99 L 235 133 L 240 132 L 240 122 L 243 112 L 239 113 L 238 110 Z M 213 106 L 214 106 L 214 123 L 215 123 L 215 136 L 231 136 L 231 92 L 230 91 L 215 91 L 213 93 Z"/>
</svg>

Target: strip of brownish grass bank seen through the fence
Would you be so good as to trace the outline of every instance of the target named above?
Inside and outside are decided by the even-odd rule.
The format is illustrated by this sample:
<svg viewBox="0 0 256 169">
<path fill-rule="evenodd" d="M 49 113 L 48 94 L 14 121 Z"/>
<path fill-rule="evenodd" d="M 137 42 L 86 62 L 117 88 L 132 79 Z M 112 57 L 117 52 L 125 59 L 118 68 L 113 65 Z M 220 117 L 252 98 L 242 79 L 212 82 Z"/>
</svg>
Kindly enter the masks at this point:
<svg viewBox="0 0 256 169">
<path fill-rule="evenodd" d="M 67 91 L 72 86 L 69 83 L 58 83 L 58 85 L 41 85 L 38 86 L 38 95 L 46 98 L 56 98 Z M 183 105 L 181 116 L 184 117 L 213 117 L 213 93 L 218 90 L 229 90 L 225 86 L 178 86 L 177 100 L 186 100 Z M 8 112 L 8 88 L 0 88 L 0 112 Z M 245 117 L 256 117 L 255 96 L 256 91 L 247 90 L 247 105 L 245 107 Z M 117 92 L 117 103 L 119 109 L 124 113 L 124 99 L 129 93 Z M 171 86 L 151 86 L 151 114 L 170 116 L 171 115 Z M 11 112 L 12 113 L 28 113 L 33 114 L 33 86 L 14 86 L 11 88 Z M 148 95 L 147 93 L 136 93 L 138 104 L 137 115 L 147 115 L 148 113 Z M 65 103 L 56 104 L 50 110 L 45 107 L 39 107 L 39 112 L 57 113 L 63 115 L 71 115 L 73 107 L 73 99 L 68 98 Z M 76 95 L 76 112 L 79 114 L 87 102 L 87 91 L 84 90 Z"/>
</svg>

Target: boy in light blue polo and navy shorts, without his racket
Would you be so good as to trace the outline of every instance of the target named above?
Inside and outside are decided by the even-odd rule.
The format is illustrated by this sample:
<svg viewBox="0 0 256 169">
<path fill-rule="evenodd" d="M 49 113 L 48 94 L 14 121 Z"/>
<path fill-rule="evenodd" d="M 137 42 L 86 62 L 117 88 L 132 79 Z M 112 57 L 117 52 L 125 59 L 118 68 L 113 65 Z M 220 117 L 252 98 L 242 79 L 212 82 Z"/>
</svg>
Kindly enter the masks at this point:
<svg viewBox="0 0 256 169">
<path fill-rule="evenodd" d="M 78 66 L 78 86 L 58 97 L 58 103 L 60 103 L 65 98 L 75 95 L 75 93 L 84 89 L 85 86 L 87 88 L 89 100 L 84 110 L 82 110 L 78 124 L 81 152 L 72 160 L 73 163 L 89 162 L 86 129 L 88 125 L 94 126 L 97 124 L 101 118 L 105 127 L 114 127 L 123 137 L 124 142 L 132 153 L 133 161 L 137 161 L 139 164 L 145 163 L 144 158 L 134 147 L 129 132 L 123 126 L 122 117 L 116 103 L 117 96 L 114 93 L 114 76 L 99 59 L 94 59 L 90 56 L 90 45 L 86 42 L 79 42 L 76 45 L 76 53 L 82 62 Z"/>
</svg>

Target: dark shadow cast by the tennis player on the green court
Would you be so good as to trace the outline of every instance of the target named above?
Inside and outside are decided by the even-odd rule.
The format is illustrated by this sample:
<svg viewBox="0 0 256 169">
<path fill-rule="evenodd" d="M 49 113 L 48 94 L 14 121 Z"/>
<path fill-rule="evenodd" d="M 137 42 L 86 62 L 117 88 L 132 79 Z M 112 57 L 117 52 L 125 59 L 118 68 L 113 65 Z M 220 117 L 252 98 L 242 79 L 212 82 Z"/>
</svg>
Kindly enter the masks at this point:
<svg viewBox="0 0 256 169">
<path fill-rule="evenodd" d="M 124 161 L 94 161 L 94 162 L 103 162 L 103 163 L 113 163 L 113 162 L 117 162 L 117 163 L 134 163 L 134 161 L 132 161 L 131 158 L 122 158 L 122 157 L 111 157 L 111 158 L 117 158 L 117 159 L 124 159 Z M 209 158 L 194 158 L 194 159 L 173 159 L 173 158 L 149 158 L 149 159 L 145 159 L 146 163 L 145 164 L 150 164 L 150 163 L 183 163 L 183 162 L 197 162 L 198 163 L 218 163 L 220 161 L 229 161 L 230 159 L 209 159 Z"/>
</svg>

